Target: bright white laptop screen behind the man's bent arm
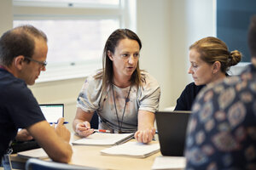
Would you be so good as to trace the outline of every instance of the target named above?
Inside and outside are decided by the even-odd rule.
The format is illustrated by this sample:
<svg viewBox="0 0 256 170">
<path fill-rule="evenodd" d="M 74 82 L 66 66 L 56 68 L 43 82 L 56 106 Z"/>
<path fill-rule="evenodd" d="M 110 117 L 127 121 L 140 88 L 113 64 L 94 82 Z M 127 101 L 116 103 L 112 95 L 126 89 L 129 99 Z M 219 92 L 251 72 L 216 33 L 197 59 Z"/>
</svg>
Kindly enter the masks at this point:
<svg viewBox="0 0 256 170">
<path fill-rule="evenodd" d="M 57 122 L 60 117 L 64 116 L 63 104 L 44 104 L 39 105 L 47 122 Z"/>
</svg>

